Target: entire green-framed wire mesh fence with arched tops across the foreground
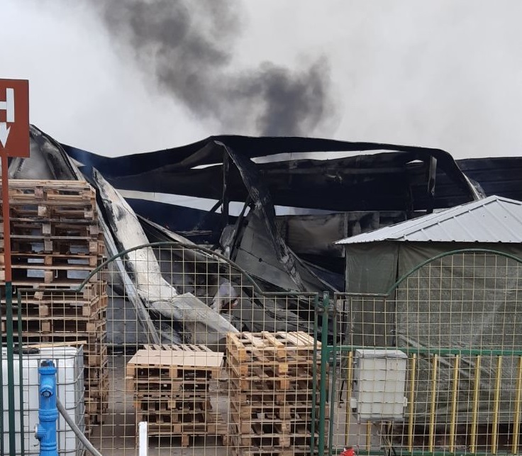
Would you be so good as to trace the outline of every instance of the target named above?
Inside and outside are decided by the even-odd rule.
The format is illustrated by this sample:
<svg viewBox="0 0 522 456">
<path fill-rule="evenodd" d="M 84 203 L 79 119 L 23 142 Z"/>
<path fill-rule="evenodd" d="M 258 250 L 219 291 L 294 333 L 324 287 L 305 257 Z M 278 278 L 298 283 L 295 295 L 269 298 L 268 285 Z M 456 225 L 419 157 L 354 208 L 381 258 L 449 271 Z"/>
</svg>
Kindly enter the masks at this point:
<svg viewBox="0 0 522 456">
<path fill-rule="evenodd" d="M 232 262 L 194 245 L 140 246 L 105 262 L 93 256 L 90 266 L 55 269 L 60 254 L 44 258 L 52 275 L 28 273 L 15 284 L 13 306 L 2 307 L 2 321 L 8 310 L 18 316 L 6 350 L 21 366 L 3 388 L 3 404 L 9 391 L 15 406 L 0 418 L 2 454 L 7 429 L 17 445 L 11 454 L 38 450 L 24 364 L 38 354 L 28 350 L 51 350 L 46 356 L 71 372 L 57 379 L 60 399 L 106 456 L 135 455 L 139 421 L 149 424 L 150 455 L 333 455 L 346 445 L 359 454 L 520 452 L 522 270 L 515 257 L 448 252 L 387 294 L 328 296 L 263 292 Z M 169 313 L 165 303 L 179 304 L 180 296 L 208 310 L 197 321 L 194 306 Z M 248 339 L 231 348 L 230 327 Z M 225 328 L 223 338 L 216 328 Z M 60 345 L 78 351 L 66 355 Z M 177 350 L 194 362 L 184 366 Z M 404 372 L 399 355 L 385 356 L 386 369 L 361 377 L 368 350 L 404 353 Z M 165 356 L 177 361 L 166 368 Z M 380 387 L 362 391 L 362 380 Z M 400 416 L 378 419 L 390 385 L 392 396 L 404 397 Z M 370 419 L 354 401 L 362 392 L 379 404 L 365 412 Z M 66 431 L 59 423 L 60 451 L 81 455 Z"/>
</svg>

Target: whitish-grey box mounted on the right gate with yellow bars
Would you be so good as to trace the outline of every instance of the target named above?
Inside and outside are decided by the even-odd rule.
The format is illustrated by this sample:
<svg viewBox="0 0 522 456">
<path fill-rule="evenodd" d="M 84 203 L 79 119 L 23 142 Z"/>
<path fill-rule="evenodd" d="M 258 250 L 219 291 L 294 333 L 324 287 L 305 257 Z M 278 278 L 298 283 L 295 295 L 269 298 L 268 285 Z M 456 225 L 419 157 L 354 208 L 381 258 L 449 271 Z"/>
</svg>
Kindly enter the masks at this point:
<svg viewBox="0 0 522 456">
<path fill-rule="evenodd" d="M 404 418 L 407 362 L 401 350 L 355 350 L 350 407 L 358 421 Z"/>
</svg>

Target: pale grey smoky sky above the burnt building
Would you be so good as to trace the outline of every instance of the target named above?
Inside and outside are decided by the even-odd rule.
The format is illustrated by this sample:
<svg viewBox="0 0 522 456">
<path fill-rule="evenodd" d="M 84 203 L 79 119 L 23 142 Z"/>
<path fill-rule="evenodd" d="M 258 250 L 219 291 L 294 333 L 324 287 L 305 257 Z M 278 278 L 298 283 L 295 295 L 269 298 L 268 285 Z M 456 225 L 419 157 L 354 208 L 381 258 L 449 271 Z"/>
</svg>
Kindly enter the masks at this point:
<svg viewBox="0 0 522 456">
<path fill-rule="evenodd" d="M 226 133 L 516 156 L 521 13 L 518 0 L 0 0 L 0 78 L 29 79 L 35 126 L 107 156 Z"/>
</svg>

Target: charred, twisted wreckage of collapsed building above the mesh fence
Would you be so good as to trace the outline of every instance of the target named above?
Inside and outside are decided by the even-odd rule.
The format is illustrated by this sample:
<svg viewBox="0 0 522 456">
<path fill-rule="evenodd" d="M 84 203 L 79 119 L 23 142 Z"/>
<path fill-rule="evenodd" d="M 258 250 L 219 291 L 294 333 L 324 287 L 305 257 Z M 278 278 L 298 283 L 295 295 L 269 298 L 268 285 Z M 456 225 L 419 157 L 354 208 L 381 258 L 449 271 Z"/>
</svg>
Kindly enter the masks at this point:
<svg viewBox="0 0 522 456">
<path fill-rule="evenodd" d="M 335 240 L 483 196 L 448 152 L 433 148 L 226 135 L 101 157 L 33 126 L 30 132 L 30 158 L 11 160 L 11 177 L 83 174 L 99 194 L 117 189 L 126 201 L 114 196 L 112 204 L 128 204 L 148 240 L 207 245 L 268 291 L 342 290 L 343 249 Z M 127 248 L 111 198 L 99 206 L 113 251 Z M 129 277 L 121 282 L 133 286 Z"/>
</svg>

